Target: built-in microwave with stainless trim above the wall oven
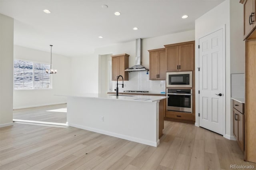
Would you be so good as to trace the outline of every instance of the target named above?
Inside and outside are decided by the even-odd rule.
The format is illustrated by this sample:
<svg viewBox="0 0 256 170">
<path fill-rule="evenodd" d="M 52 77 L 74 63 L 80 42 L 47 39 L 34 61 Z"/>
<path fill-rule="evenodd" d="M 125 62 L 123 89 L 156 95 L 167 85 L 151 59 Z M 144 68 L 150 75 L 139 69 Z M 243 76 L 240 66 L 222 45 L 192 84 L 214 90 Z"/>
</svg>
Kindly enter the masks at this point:
<svg viewBox="0 0 256 170">
<path fill-rule="evenodd" d="M 192 71 L 166 72 L 166 87 L 192 87 Z"/>
</svg>

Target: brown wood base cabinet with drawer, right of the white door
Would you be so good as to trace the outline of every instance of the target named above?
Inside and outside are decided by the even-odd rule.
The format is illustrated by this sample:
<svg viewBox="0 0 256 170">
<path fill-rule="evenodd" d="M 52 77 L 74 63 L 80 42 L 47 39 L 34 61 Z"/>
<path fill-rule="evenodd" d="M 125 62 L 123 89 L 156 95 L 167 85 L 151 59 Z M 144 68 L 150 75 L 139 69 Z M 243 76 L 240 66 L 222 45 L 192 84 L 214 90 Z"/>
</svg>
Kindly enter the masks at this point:
<svg viewBox="0 0 256 170">
<path fill-rule="evenodd" d="M 236 141 L 244 150 L 244 104 L 233 100 L 233 132 Z"/>
</svg>

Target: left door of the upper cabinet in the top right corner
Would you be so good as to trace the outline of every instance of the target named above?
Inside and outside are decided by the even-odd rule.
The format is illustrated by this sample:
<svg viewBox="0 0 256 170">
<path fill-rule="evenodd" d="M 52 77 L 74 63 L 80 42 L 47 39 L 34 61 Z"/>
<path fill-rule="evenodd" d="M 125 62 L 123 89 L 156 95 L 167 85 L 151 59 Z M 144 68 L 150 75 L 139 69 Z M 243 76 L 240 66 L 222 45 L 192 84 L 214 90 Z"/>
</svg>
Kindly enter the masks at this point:
<svg viewBox="0 0 256 170">
<path fill-rule="evenodd" d="M 255 0 L 246 0 L 244 2 L 244 38 L 248 36 L 253 28 L 253 24 L 250 25 L 250 15 L 253 12 L 253 5 Z M 252 20 L 255 20 L 255 14 L 252 17 Z"/>
</svg>

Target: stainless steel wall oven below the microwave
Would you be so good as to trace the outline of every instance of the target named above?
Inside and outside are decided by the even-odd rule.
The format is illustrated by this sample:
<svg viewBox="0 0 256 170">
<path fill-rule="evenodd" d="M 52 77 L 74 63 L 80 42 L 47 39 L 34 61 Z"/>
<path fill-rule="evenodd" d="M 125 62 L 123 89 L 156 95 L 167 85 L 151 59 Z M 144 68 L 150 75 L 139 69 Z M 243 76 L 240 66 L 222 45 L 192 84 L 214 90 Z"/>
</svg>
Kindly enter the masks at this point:
<svg viewBox="0 0 256 170">
<path fill-rule="evenodd" d="M 166 89 L 168 111 L 192 113 L 192 89 Z"/>
</svg>

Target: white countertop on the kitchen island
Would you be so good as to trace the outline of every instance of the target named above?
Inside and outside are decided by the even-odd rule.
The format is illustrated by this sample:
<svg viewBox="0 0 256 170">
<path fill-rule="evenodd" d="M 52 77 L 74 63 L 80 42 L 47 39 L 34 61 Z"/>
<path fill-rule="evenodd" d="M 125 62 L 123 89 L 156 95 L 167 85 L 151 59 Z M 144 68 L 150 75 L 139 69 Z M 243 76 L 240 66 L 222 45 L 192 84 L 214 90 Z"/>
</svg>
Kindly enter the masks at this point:
<svg viewBox="0 0 256 170">
<path fill-rule="evenodd" d="M 96 98 L 96 99 L 112 99 L 112 100 L 124 100 L 124 101 L 139 101 L 139 102 L 154 102 L 162 99 L 166 99 L 166 96 L 148 96 L 148 95 L 116 95 L 105 94 L 105 93 L 84 93 L 84 94 L 67 94 L 59 95 L 67 97 L 86 97 L 86 98 Z"/>
</svg>

